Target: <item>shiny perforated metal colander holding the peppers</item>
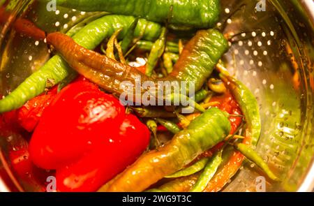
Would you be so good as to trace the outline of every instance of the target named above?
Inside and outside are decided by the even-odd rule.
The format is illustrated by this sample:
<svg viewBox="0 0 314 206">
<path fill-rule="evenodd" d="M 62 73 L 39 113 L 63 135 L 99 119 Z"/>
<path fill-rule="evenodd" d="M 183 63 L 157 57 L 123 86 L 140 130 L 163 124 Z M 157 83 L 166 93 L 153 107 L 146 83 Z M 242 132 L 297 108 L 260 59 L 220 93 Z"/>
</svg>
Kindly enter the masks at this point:
<svg viewBox="0 0 314 206">
<path fill-rule="evenodd" d="M 0 1 L 1 2 L 1 1 Z M 34 1 L 10 1 L 8 9 L 47 32 L 66 31 L 91 13 L 46 6 Z M 283 182 L 267 182 L 267 191 L 312 191 L 314 186 L 312 0 L 222 0 L 218 26 L 232 45 L 223 57 L 230 71 L 255 94 L 260 104 L 262 136 L 257 145 L 264 161 Z M 50 57 L 45 43 L 0 27 L 0 94 L 6 95 Z M 37 191 L 33 177 L 10 168 L 8 147 L 21 148 L 24 134 L 0 138 L 0 191 Z M 257 166 L 246 161 L 224 191 L 256 191 Z"/>
</svg>

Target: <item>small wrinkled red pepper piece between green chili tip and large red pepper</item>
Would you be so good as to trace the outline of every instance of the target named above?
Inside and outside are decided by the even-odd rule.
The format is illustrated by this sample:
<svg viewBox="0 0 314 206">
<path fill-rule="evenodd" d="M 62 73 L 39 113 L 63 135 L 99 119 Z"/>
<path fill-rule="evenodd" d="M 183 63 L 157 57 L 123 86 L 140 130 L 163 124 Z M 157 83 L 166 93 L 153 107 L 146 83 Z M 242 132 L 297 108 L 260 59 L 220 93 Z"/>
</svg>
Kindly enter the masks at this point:
<svg viewBox="0 0 314 206">
<path fill-rule="evenodd" d="M 18 113 L 18 122 L 22 128 L 28 132 L 32 132 L 37 126 L 43 111 L 52 102 L 57 95 L 57 87 L 51 89 L 47 94 L 42 94 L 25 103 Z"/>
</svg>

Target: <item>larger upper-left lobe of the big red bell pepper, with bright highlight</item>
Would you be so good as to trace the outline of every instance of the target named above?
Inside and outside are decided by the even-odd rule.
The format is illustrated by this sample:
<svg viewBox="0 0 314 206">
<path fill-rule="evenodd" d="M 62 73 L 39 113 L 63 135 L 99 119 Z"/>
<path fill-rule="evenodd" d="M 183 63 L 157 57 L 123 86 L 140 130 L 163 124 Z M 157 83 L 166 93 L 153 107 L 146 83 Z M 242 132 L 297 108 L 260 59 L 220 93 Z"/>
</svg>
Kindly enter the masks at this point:
<svg viewBox="0 0 314 206">
<path fill-rule="evenodd" d="M 104 135 L 117 133 L 124 107 L 90 82 L 68 85 L 43 112 L 29 152 L 40 168 L 57 169 L 89 152 Z"/>
</svg>

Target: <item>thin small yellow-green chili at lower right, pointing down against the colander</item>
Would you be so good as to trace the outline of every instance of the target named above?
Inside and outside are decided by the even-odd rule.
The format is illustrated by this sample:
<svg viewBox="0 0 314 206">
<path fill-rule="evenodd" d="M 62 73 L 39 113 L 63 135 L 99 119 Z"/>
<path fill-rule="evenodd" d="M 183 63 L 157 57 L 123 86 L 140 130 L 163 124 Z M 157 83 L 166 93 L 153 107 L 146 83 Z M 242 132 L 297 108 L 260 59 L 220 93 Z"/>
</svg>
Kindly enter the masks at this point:
<svg viewBox="0 0 314 206">
<path fill-rule="evenodd" d="M 239 143 L 237 145 L 234 145 L 234 147 L 237 150 L 239 150 L 239 152 L 244 154 L 244 156 L 246 156 L 247 159 L 249 159 L 250 161 L 253 161 L 253 163 L 259 166 L 270 179 L 273 179 L 274 181 L 279 181 L 279 178 L 276 177 L 276 175 L 274 175 L 273 172 L 271 172 L 267 163 L 264 162 L 262 157 L 260 157 L 260 155 L 258 155 L 257 152 L 255 152 L 253 149 L 248 147 L 248 145 Z"/>
</svg>

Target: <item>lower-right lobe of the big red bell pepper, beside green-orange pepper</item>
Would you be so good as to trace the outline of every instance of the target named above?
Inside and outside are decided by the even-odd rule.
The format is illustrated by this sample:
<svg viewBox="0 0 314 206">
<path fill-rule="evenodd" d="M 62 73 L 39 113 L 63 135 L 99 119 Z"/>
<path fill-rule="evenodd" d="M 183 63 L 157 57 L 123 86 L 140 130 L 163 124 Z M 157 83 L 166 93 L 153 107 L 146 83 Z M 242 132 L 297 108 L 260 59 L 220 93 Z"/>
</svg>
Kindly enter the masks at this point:
<svg viewBox="0 0 314 206">
<path fill-rule="evenodd" d="M 104 140 L 91 154 L 57 170 L 57 190 L 96 191 L 133 163 L 147 145 L 148 129 L 137 117 L 128 115 L 112 140 Z"/>
</svg>

